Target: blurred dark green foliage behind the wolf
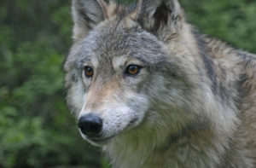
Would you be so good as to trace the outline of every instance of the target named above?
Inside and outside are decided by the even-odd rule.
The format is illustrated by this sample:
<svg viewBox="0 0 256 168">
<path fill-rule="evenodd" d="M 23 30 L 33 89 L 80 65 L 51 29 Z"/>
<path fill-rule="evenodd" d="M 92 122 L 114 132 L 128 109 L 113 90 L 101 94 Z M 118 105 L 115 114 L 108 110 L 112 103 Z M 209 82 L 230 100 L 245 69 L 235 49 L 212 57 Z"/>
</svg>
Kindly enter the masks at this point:
<svg viewBox="0 0 256 168">
<path fill-rule="evenodd" d="M 108 167 L 65 105 L 61 64 L 72 43 L 70 3 L 1 2 L 0 167 Z M 181 3 L 201 32 L 256 53 L 255 0 Z"/>
</svg>

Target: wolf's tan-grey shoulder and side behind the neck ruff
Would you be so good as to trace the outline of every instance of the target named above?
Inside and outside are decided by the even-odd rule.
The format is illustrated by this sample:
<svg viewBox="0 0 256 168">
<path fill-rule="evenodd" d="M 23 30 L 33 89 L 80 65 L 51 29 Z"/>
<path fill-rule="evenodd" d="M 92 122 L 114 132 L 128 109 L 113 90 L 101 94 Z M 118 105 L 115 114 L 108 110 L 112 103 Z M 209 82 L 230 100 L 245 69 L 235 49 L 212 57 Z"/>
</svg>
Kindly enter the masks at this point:
<svg viewBox="0 0 256 168">
<path fill-rule="evenodd" d="M 207 52 L 214 62 L 218 83 L 223 84 L 226 99 L 236 102 L 241 123 L 236 132 L 236 141 L 231 141 L 231 148 L 238 151 L 247 148 L 247 155 L 256 159 L 256 55 L 231 47 L 215 38 L 201 36 L 206 43 Z M 221 86 L 221 85 L 219 85 Z M 236 96 L 232 96 L 236 92 Z M 244 144 L 242 147 L 241 144 Z M 230 155 L 236 162 L 236 154 Z"/>
</svg>

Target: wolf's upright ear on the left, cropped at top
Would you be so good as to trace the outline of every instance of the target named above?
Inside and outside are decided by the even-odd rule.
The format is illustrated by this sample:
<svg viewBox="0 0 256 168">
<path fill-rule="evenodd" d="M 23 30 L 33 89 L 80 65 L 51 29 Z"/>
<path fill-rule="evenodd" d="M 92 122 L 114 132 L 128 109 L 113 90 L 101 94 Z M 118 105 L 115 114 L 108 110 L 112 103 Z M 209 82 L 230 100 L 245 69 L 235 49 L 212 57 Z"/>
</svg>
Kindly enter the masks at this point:
<svg viewBox="0 0 256 168">
<path fill-rule="evenodd" d="M 86 36 L 96 24 L 104 20 L 104 0 L 73 0 L 73 39 L 78 40 Z"/>
</svg>

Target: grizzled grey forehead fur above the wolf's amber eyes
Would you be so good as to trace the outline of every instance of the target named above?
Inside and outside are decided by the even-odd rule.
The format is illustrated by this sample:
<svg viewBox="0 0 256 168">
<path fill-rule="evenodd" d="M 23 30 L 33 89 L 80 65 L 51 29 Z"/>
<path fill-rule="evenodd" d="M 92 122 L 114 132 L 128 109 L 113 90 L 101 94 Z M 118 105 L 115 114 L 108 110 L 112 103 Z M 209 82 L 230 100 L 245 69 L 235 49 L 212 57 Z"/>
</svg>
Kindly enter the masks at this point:
<svg viewBox="0 0 256 168">
<path fill-rule="evenodd" d="M 142 61 L 160 61 L 163 55 L 163 43 L 154 35 L 142 30 L 139 26 L 102 26 L 89 33 L 79 43 L 80 59 L 95 60 L 104 63 L 113 58 L 129 56 Z"/>
</svg>

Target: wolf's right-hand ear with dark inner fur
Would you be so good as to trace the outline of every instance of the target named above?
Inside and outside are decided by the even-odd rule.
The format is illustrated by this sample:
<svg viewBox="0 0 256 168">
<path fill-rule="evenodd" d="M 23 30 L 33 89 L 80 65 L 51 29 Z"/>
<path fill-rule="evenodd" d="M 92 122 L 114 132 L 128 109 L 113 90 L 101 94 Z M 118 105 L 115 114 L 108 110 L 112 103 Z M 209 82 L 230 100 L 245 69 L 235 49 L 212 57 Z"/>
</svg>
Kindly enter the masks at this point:
<svg viewBox="0 0 256 168">
<path fill-rule="evenodd" d="M 167 41 L 183 28 L 183 9 L 178 0 L 139 0 L 138 22 L 144 29 Z"/>
</svg>

